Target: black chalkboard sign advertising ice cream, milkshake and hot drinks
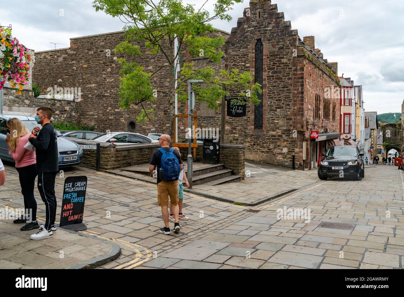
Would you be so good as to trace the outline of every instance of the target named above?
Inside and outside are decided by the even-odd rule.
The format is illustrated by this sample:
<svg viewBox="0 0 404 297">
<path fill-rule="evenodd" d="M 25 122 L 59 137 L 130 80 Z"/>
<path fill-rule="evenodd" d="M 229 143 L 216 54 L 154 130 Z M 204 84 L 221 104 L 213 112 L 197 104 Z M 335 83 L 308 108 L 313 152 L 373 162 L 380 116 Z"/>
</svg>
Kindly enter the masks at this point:
<svg viewBox="0 0 404 297">
<path fill-rule="evenodd" d="M 60 227 L 75 231 L 87 229 L 83 224 L 86 188 L 86 176 L 69 176 L 65 179 Z"/>
</svg>

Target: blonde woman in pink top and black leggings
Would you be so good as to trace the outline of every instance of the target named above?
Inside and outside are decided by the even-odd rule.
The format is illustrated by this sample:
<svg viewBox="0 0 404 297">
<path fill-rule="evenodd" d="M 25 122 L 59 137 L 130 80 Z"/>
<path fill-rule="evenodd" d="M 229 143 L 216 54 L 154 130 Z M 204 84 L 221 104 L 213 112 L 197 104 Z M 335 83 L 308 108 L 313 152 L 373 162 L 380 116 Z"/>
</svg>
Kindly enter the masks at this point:
<svg viewBox="0 0 404 297">
<path fill-rule="evenodd" d="M 36 200 L 34 197 L 35 177 L 37 176 L 36 156 L 35 152 L 24 148 L 31 132 L 16 117 L 7 121 L 7 129 L 9 132 L 6 142 L 18 171 L 25 207 L 25 218 L 20 217 L 14 220 L 14 223 L 26 223 L 25 226 L 21 227 L 21 231 L 37 229 L 39 224 L 36 220 Z"/>
</svg>

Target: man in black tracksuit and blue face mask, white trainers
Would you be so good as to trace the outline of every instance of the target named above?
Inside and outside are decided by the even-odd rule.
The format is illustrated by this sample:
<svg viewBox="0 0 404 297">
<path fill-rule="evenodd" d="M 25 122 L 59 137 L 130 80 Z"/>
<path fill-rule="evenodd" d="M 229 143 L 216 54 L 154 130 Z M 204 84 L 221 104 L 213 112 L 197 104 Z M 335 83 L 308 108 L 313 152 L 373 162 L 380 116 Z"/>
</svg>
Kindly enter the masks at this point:
<svg viewBox="0 0 404 297">
<path fill-rule="evenodd" d="M 46 207 L 46 222 L 44 228 L 31 235 L 31 239 L 49 238 L 56 231 L 56 196 L 55 178 L 59 170 L 57 132 L 50 124 L 52 109 L 40 107 L 37 109 L 35 120 L 42 129 L 35 127 L 29 142 L 35 147 L 36 169 L 38 171 L 38 190 Z M 39 131 L 39 132 L 38 132 Z"/>
</svg>

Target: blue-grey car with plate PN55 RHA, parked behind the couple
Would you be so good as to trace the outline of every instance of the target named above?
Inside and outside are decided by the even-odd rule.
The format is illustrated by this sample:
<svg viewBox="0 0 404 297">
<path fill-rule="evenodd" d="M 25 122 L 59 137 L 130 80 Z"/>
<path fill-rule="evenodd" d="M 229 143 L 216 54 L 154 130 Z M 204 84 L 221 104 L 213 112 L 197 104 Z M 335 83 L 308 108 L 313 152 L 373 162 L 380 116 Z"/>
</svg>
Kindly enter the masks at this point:
<svg viewBox="0 0 404 297">
<path fill-rule="evenodd" d="M 6 143 L 7 121 L 13 117 L 20 119 L 28 131 L 31 132 L 34 127 L 41 127 L 34 117 L 26 117 L 24 115 L 0 115 L 0 158 L 6 161 L 14 162 L 13 157 L 8 153 Z M 80 146 L 64 137 L 57 131 L 57 148 L 59 151 L 59 167 L 76 165 L 83 161 L 83 150 Z"/>
</svg>

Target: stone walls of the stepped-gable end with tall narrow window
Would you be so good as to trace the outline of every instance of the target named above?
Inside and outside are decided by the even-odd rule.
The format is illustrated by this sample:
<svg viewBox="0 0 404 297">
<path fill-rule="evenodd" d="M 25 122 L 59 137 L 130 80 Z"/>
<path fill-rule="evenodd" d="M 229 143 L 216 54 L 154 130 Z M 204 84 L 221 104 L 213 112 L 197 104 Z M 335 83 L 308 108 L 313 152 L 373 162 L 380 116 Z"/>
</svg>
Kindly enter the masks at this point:
<svg viewBox="0 0 404 297">
<path fill-rule="evenodd" d="M 321 133 L 327 125 L 330 132 L 339 131 L 339 116 L 332 123 L 307 125 L 308 105 L 314 106 L 315 94 L 321 95 L 320 109 L 324 113 L 324 88 L 337 87 L 338 78 L 315 56 L 314 52 L 320 51 L 307 50 L 290 21 L 285 21 L 277 5 L 268 0 L 250 1 L 237 27 L 231 30 L 226 69 L 251 71 L 256 77 L 258 39 L 263 43 L 263 128 L 255 129 L 256 107 L 247 102 L 246 117 L 228 119 L 226 143 L 245 143 L 246 159 L 274 165 L 291 167 L 292 155 L 296 155 L 296 167 L 302 168 L 303 135 L 309 138 L 311 129 Z M 314 37 L 311 45 L 314 47 Z"/>
</svg>

